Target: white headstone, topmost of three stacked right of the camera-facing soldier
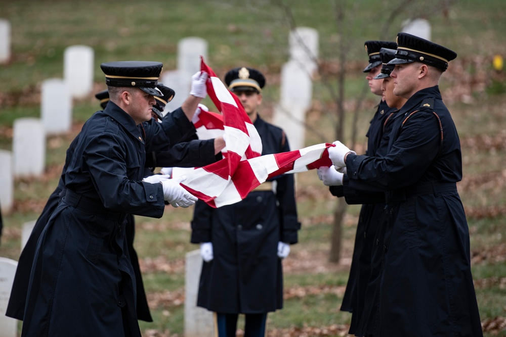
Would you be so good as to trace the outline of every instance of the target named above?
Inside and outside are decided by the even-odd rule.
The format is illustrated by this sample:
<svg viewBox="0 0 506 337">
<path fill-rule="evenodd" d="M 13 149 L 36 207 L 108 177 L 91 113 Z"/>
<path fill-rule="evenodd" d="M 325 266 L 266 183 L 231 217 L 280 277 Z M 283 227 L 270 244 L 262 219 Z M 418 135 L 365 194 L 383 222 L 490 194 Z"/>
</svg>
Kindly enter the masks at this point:
<svg viewBox="0 0 506 337">
<path fill-rule="evenodd" d="M 288 46 L 290 61 L 296 61 L 308 74 L 313 75 L 317 68 L 318 31 L 308 27 L 296 28 L 290 31 Z"/>
</svg>

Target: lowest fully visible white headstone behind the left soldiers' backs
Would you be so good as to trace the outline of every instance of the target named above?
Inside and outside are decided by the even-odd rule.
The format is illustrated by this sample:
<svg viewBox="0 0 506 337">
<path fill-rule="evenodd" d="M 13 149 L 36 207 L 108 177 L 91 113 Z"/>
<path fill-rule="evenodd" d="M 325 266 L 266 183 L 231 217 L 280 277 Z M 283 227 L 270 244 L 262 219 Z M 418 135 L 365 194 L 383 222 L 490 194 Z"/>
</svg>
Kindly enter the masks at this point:
<svg viewBox="0 0 506 337">
<path fill-rule="evenodd" d="M 46 163 L 46 134 L 38 118 L 18 118 L 14 121 L 12 152 L 14 175 L 40 175 Z"/>
</svg>

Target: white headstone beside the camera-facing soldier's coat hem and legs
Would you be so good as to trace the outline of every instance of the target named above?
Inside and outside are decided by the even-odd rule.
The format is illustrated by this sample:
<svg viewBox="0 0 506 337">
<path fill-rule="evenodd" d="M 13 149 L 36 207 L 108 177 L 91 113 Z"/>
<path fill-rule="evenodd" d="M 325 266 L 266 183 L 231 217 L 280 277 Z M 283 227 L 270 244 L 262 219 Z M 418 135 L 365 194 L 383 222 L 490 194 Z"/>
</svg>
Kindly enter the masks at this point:
<svg viewBox="0 0 506 337">
<path fill-rule="evenodd" d="M 197 307 L 198 283 L 202 257 L 199 250 L 186 253 L 185 271 L 185 337 L 214 335 L 213 313 Z"/>
</svg>

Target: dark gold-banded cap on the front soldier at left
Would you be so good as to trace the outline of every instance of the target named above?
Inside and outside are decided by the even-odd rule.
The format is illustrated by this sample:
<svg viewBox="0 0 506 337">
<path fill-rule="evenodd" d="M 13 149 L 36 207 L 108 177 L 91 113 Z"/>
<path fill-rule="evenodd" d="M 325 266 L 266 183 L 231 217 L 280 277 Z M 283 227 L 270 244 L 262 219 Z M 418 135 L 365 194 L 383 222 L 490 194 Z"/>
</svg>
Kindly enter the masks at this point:
<svg viewBox="0 0 506 337">
<path fill-rule="evenodd" d="M 102 63 L 108 86 L 138 87 L 156 97 L 163 93 L 156 87 L 163 64 L 150 61 L 119 61 Z"/>
</svg>

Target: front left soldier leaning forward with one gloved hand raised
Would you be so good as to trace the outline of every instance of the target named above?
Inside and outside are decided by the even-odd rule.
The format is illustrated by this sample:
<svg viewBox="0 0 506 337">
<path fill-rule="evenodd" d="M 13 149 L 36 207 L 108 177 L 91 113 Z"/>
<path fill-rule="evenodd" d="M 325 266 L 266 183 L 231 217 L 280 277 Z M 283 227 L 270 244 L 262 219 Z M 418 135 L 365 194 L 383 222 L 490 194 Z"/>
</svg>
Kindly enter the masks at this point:
<svg viewBox="0 0 506 337">
<path fill-rule="evenodd" d="M 101 65 L 111 101 L 83 125 L 68 153 L 65 188 L 37 242 L 22 336 L 140 336 L 136 280 L 125 240 L 125 216 L 161 217 L 168 201 L 196 198 L 178 181 L 144 182 L 146 151 L 195 132 L 193 113 L 205 97 L 207 74 L 192 77 L 190 97 L 162 123 L 151 119 L 158 62 Z"/>
</svg>

